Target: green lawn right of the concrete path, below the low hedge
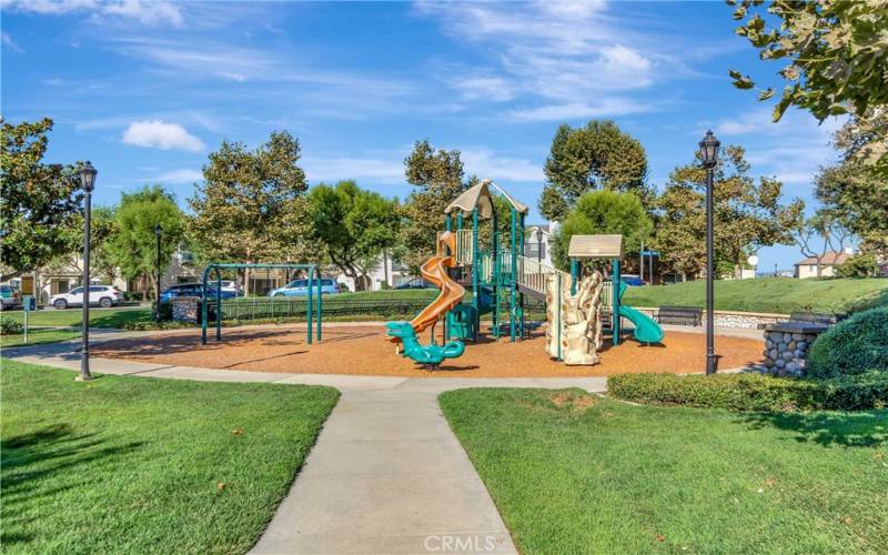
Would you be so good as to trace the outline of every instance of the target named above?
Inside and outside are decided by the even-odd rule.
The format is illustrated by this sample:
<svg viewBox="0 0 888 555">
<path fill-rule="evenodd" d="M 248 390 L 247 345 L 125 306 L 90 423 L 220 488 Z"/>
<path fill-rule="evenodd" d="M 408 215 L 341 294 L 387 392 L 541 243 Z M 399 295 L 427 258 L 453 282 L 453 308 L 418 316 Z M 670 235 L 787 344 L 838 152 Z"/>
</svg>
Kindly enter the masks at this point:
<svg viewBox="0 0 888 555">
<path fill-rule="evenodd" d="M 490 389 L 441 406 L 525 554 L 888 545 L 888 410 L 739 414 Z"/>
</svg>

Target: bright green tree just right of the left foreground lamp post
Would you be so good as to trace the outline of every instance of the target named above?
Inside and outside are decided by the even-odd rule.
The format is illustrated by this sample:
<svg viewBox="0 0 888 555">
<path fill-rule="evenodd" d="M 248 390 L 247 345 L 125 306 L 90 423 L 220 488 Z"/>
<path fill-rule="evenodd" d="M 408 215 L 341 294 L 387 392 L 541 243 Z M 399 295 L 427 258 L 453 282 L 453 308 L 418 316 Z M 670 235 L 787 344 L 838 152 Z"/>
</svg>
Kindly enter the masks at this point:
<svg viewBox="0 0 888 555">
<path fill-rule="evenodd" d="M 175 198 L 161 185 L 123 193 L 114 222 L 118 230 L 108 244 L 111 260 L 125 279 L 144 279 L 150 291 L 155 291 L 158 241 L 154 229 L 160 224 L 163 230 L 161 268 L 170 265 L 185 231 L 185 218 Z"/>
</svg>

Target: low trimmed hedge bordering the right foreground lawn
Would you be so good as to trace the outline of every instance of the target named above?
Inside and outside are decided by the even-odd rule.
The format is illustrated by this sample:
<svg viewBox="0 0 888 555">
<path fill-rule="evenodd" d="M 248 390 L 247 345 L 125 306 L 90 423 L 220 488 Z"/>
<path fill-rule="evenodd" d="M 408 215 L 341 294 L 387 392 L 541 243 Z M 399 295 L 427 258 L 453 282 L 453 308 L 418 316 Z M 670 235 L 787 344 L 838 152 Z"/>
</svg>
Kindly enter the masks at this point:
<svg viewBox="0 0 888 555">
<path fill-rule="evenodd" d="M 607 379 L 607 393 L 643 404 L 728 411 L 866 411 L 888 406 L 888 375 L 796 380 L 763 374 L 619 374 Z"/>
</svg>

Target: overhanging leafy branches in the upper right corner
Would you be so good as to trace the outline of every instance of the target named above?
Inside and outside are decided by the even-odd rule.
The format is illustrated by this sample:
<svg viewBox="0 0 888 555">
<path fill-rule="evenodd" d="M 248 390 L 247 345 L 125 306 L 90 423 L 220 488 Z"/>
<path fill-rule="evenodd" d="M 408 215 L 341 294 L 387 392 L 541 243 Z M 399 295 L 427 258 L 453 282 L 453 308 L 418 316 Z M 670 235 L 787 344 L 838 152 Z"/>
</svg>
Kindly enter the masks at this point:
<svg viewBox="0 0 888 555">
<path fill-rule="evenodd" d="M 787 84 L 774 109 L 774 121 L 790 105 L 810 111 L 820 121 L 850 112 L 875 133 L 878 155 L 868 160 L 880 160 L 880 172 L 888 175 L 886 129 L 870 125 L 888 104 L 888 2 L 778 0 L 766 9 L 763 0 L 728 0 L 728 4 L 736 7 L 734 19 L 747 18 L 737 34 L 759 50 L 759 58 L 785 61 L 779 74 Z M 749 75 L 729 73 L 738 89 L 756 88 Z M 759 100 L 768 100 L 774 92 L 759 89 Z"/>
</svg>

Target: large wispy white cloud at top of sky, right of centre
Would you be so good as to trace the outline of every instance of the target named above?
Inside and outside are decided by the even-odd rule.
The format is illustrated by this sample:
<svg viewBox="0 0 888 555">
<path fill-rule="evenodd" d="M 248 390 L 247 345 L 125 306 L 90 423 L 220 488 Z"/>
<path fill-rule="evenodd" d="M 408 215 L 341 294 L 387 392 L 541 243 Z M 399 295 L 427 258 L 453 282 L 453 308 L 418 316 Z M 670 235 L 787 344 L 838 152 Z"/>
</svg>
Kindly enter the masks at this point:
<svg viewBox="0 0 888 555">
<path fill-rule="evenodd" d="M 451 87 L 468 101 L 514 100 L 503 115 L 515 121 L 647 111 L 655 102 L 638 91 L 690 71 L 663 37 L 635 30 L 604 1 L 418 2 L 415 12 L 486 54 Z"/>
</svg>

